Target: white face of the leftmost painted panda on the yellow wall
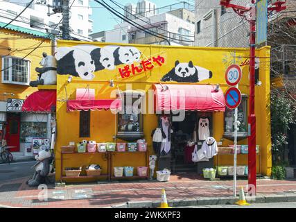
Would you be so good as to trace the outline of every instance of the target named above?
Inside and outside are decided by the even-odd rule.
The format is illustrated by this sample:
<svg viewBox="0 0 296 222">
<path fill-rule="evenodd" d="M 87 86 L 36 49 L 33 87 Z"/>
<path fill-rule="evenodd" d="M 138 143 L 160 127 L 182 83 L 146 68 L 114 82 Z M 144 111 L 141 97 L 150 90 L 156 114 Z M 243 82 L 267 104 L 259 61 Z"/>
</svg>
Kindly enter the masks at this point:
<svg viewBox="0 0 296 222">
<path fill-rule="evenodd" d="M 94 60 L 89 53 L 82 53 L 81 51 L 73 51 L 73 59 L 76 72 L 80 78 L 92 80 L 94 78 Z"/>
</svg>

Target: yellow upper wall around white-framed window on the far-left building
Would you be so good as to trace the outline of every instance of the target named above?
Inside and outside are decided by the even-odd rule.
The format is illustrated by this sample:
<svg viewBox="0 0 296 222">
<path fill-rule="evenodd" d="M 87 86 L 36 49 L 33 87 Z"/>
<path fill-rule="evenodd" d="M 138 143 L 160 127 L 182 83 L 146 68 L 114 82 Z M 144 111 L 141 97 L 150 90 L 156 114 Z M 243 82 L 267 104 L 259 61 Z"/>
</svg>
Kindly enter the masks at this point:
<svg viewBox="0 0 296 222">
<path fill-rule="evenodd" d="M 9 31 L 6 29 L 0 30 L 0 56 L 15 56 L 23 58 L 30 53 L 36 46 L 44 39 L 33 35 Z M 42 60 L 42 53 L 51 55 L 51 41 L 45 40 L 42 45 L 26 59 L 31 61 L 31 80 L 37 79 L 35 67 L 40 67 L 39 62 Z M 2 59 L 0 60 L 0 67 L 2 69 Z M 37 91 L 37 87 L 29 87 L 28 85 L 16 85 L 1 83 L 2 72 L 0 73 L 0 101 L 5 100 L 3 92 L 14 93 L 15 96 L 7 96 L 6 99 L 26 99 L 33 92 Z"/>
</svg>

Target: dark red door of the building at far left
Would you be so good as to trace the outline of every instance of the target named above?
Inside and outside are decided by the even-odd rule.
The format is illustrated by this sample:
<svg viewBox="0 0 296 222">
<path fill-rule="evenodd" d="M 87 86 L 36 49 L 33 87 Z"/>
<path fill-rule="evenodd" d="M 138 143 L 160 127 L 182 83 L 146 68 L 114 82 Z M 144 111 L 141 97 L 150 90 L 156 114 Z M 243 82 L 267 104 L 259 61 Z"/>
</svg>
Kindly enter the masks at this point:
<svg viewBox="0 0 296 222">
<path fill-rule="evenodd" d="M 19 131 L 21 125 L 21 116 L 17 113 L 7 113 L 6 124 L 6 142 L 11 152 L 19 152 Z"/>
</svg>

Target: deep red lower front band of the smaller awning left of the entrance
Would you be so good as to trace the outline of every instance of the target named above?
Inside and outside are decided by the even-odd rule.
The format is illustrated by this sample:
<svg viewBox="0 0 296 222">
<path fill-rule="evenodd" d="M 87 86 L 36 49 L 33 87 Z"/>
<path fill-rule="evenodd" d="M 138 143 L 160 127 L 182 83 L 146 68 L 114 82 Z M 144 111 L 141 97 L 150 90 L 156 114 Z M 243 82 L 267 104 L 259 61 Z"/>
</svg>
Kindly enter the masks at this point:
<svg viewBox="0 0 296 222">
<path fill-rule="evenodd" d="M 121 99 L 69 100 L 67 111 L 121 110 Z"/>
</svg>

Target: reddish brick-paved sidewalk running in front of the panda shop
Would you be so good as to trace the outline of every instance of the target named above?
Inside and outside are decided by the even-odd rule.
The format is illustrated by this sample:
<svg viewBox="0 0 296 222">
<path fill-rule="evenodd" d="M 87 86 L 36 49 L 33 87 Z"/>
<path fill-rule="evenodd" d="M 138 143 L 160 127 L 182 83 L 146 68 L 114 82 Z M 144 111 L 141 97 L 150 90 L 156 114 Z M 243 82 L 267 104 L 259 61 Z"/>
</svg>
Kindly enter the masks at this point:
<svg viewBox="0 0 296 222">
<path fill-rule="evenodd" d="M 0 207 L 159 207 L 162 189 L 166 189 L 168 205 L 233 204 L 232 180 L 209 181 L 196 176 L 171 176 L 169 182 L 112 182 L 89 185 L 49 186 L 46 191 L 30 188 L 28 178 L 0 182 Z M 238 188 L 246 191 L 247 180 L 238 180 Z M 41 192 L 40 192 L 41 191 Z M 44 200 L 43 194 L 47 194 Z M 39 196 L 38 196 L 39 195 Z M 256 199 L 250 203 L 296 201 L 296 181 L 258 180 Z"/>
</svg>

